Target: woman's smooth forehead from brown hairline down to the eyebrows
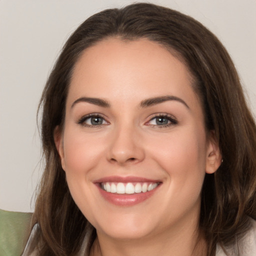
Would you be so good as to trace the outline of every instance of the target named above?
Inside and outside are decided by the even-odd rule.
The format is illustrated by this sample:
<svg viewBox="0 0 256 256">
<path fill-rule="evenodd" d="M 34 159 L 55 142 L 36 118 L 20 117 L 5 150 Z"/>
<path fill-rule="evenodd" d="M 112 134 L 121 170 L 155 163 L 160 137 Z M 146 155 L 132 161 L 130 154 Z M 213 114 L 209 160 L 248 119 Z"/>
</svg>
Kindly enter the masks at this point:
<svg viewBox="0 0 256 256">
<path fill-rule="evenodd" d="M 146 39 L 110 38 L 85 49 L 76 62 L 66 113 L 77 99 L 90 97 L 110 103 L 116 113 L 134 114 L 141 102 L 161 96 L 180 98 L 204 119 L 188 68 L 169 50 Z"/>
</svg>

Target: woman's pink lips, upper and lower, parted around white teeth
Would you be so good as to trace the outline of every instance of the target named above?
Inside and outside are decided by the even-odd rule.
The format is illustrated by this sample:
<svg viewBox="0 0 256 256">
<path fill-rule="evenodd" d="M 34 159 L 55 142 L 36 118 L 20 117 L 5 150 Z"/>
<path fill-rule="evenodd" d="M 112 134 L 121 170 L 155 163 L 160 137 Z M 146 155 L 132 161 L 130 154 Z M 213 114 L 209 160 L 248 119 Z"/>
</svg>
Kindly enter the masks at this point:
<svg viewBox="0 0 256 256">
<path fill-rule="evenodd" d="M 135 193 L 135 194 L 116 194 L 116 193 L 110 193 L 105 190 L 103 190 L 100 186 L 100 183 L 102 182 L 122 182 L 122 183 L 128 183 L 128 182 L 153 182 L 153 183 L 159 183 L 158 186 L 150 191 L 141 192 L 141 193 Z M 136 177 L 136 176 L 108 176 L 108 177 L 102 177 L 93 182 L 101 196 L 107 200 L 108 202 L 118 205 L 118 206 L 132 206 L 138 203 L 141 203 L 145 200 L 147 200 L 149 197 L 151 197 L 161 186 L 162 182 L 160 180 L 156 179 L 148 179 L 144 177 Z"/>
</svg>

